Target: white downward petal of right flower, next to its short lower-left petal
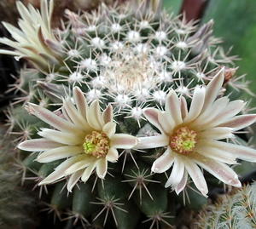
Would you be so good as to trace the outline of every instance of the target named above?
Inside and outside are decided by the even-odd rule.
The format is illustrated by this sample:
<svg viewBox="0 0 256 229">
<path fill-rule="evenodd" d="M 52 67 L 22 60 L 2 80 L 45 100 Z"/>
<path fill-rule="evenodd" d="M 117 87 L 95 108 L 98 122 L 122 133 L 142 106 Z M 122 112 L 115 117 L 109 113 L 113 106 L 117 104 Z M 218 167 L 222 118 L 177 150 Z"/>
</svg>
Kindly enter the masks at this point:
<svg viewBox="0 0 256 229">
<path fill-rule="evenodd" d="M 172 190 L 176 188 L 176 186 L 183 179 L 184 175 L 184 163 L 182 158 L 174 157 L 174 162 L 172 166 L 172 173 L 169 179 L 166 182 L 165 187 L 172 186 Z"/>
</svg>

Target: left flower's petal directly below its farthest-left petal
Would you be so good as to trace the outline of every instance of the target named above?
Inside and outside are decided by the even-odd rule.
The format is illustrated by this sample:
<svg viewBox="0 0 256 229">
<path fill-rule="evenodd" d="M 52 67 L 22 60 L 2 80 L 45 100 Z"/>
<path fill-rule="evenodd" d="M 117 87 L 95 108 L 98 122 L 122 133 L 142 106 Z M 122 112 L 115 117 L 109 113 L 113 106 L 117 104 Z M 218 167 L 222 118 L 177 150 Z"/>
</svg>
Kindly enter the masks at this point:
<svg viewBox="0 0 256 229">
<path fill-rule="evenodd" d="M 83 153 L 81 146 L 61 146 L 54 149 L 49 149 L 38 155 L 39 163 L 49 163 L 62 158 L 73 157 L 79 153 Z"/>
</svg>

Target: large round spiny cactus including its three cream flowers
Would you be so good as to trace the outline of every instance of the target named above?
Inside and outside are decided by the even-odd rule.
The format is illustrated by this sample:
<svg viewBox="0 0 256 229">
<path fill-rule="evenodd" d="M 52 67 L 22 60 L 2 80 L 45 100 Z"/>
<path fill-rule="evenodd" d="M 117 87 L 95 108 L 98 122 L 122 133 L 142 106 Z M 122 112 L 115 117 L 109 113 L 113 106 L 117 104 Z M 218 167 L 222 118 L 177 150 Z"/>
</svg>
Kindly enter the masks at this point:
<svg viewBox="0 0 256 229">
<path fill-rule="evenodd" d="M 239 114 L 236 56 L 212 37 L 212 20 L 198 27 L 160 1 L 131 1 L 67 9 L 68 23 L 52 29 L 52 0 L 41 12 L 17 8 L 20 30 L 3 24 L 15 41 L 0 39 L 15 50 L 0 53 L 33 67 L 11 85 L 9 134 L 19 134 L 20 166 L 55 220 L 168 228 L 180 192 L 183 208 L 198 211 L 207 183 L 241 186 L 229 165 L 256 162 L 256 151 L 234 134 L 256 116 Z"/>
</svg>

